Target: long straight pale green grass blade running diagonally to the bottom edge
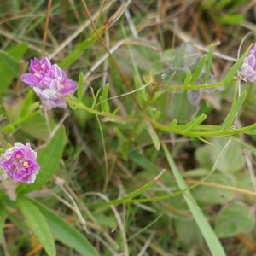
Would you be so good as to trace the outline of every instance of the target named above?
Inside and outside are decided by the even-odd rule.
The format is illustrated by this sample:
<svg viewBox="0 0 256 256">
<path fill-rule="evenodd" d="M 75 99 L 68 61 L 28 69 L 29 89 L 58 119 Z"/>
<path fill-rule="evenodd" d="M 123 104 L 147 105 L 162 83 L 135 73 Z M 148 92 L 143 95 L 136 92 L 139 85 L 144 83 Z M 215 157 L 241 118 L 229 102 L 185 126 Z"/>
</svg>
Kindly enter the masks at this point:
<svg viewBox="0 0 256 256">
<path fill-rule="evenodd" d="M 172 155 L 169 150 L 166 148 L 166 144 L 162 143 L 162 148 L 166 154 L 166 159 L 172 169 L 172 173 L 177 180 L 177 185 L 180 189 L 187 189 L 187 185 L 183 180 L 183 177 L 180 171 L 177 169 L 177 166 L 172 159 Z M 221 243 L 218 241 L 218 238 L 214 231 L 212 230 L 211 225 L 208 223 L 207 218 L 201 211 L 201 208 L 197 205 L 195 199 L 189 191 L 183 193 L 184 200 L 186 201 L 189 210 L 193 217 L 195 218 L 195 222 L 201 230 L 201 234 L 204 236 L 207 241 L 207 245 L 210 248 L 212 256 L 224 256 L 224 248 Z"/>
</svg>

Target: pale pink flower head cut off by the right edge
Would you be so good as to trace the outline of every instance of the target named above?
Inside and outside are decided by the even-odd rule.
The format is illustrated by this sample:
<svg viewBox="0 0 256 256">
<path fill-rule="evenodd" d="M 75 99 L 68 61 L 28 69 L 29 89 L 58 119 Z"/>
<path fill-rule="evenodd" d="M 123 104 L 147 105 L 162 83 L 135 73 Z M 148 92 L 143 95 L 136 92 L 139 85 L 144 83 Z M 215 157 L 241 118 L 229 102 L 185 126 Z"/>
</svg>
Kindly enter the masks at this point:
<svg viewBox="0 0 256 256">
<path fill-rule="evenodd" d="M 256 43 L 241 65 L 240 77 L 245 81 L 256 81 Z"/>
</svg>

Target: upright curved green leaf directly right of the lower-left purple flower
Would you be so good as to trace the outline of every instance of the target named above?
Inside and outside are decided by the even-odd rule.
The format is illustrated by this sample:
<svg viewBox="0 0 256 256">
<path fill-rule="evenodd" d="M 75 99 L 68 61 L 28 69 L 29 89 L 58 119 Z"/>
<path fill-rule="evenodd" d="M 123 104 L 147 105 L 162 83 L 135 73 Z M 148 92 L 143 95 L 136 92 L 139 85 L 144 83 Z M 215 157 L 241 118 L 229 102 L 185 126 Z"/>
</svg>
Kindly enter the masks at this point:
<svg viewBox="0 0 256 256">
<path fill-rule="evenodd" d="M 61 161 L 62 151 L 66 142 L 65 128 L 61 126 L 56 131 L 55 136 L 51 139 L 46 148 L 38 152 L 38 164 L 41 166 L 36 181 L 32 184 L 21 184 L 17 193 L 29 193 L 35 189 L 40 189 L 49 179 L 54 176 Z"/>
</svg>

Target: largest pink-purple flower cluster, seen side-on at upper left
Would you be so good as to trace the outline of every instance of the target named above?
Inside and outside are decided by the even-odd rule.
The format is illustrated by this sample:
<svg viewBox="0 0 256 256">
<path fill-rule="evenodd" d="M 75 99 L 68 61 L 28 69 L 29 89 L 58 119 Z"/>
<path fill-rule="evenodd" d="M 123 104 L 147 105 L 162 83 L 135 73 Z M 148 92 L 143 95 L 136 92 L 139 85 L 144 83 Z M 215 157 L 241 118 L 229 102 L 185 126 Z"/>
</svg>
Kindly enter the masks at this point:
<svg viewBox="0 0 256 256">
<path fill-rule="evenodd" d="M 21 79 L 32 87 L 47 109 L 67 108 L 63 96 L 73 94 L 77 88 L 77 83 L 67 79 L 66 73 L 57 64 L 52 65 L 47 57 L 40 61 L 34 58 L 29 73 L 23 74 Z"/>
</svg>

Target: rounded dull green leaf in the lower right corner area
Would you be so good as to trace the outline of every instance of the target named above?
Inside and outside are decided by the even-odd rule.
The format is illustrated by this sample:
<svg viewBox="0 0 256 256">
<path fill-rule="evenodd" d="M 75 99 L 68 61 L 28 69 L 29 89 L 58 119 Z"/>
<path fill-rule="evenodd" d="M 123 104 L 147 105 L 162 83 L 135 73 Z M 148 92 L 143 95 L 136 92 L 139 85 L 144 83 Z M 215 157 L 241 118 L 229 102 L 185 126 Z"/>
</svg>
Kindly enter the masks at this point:
<svg viewBox="0 0 256 256">
<path fill-rule="evenodd" d="M 255 218 L 253 211 L 242 204 L 234 204 L 218 213 L 215 231 L 218 237 L 230 237 L 253 230 Z"/>
</svg>

